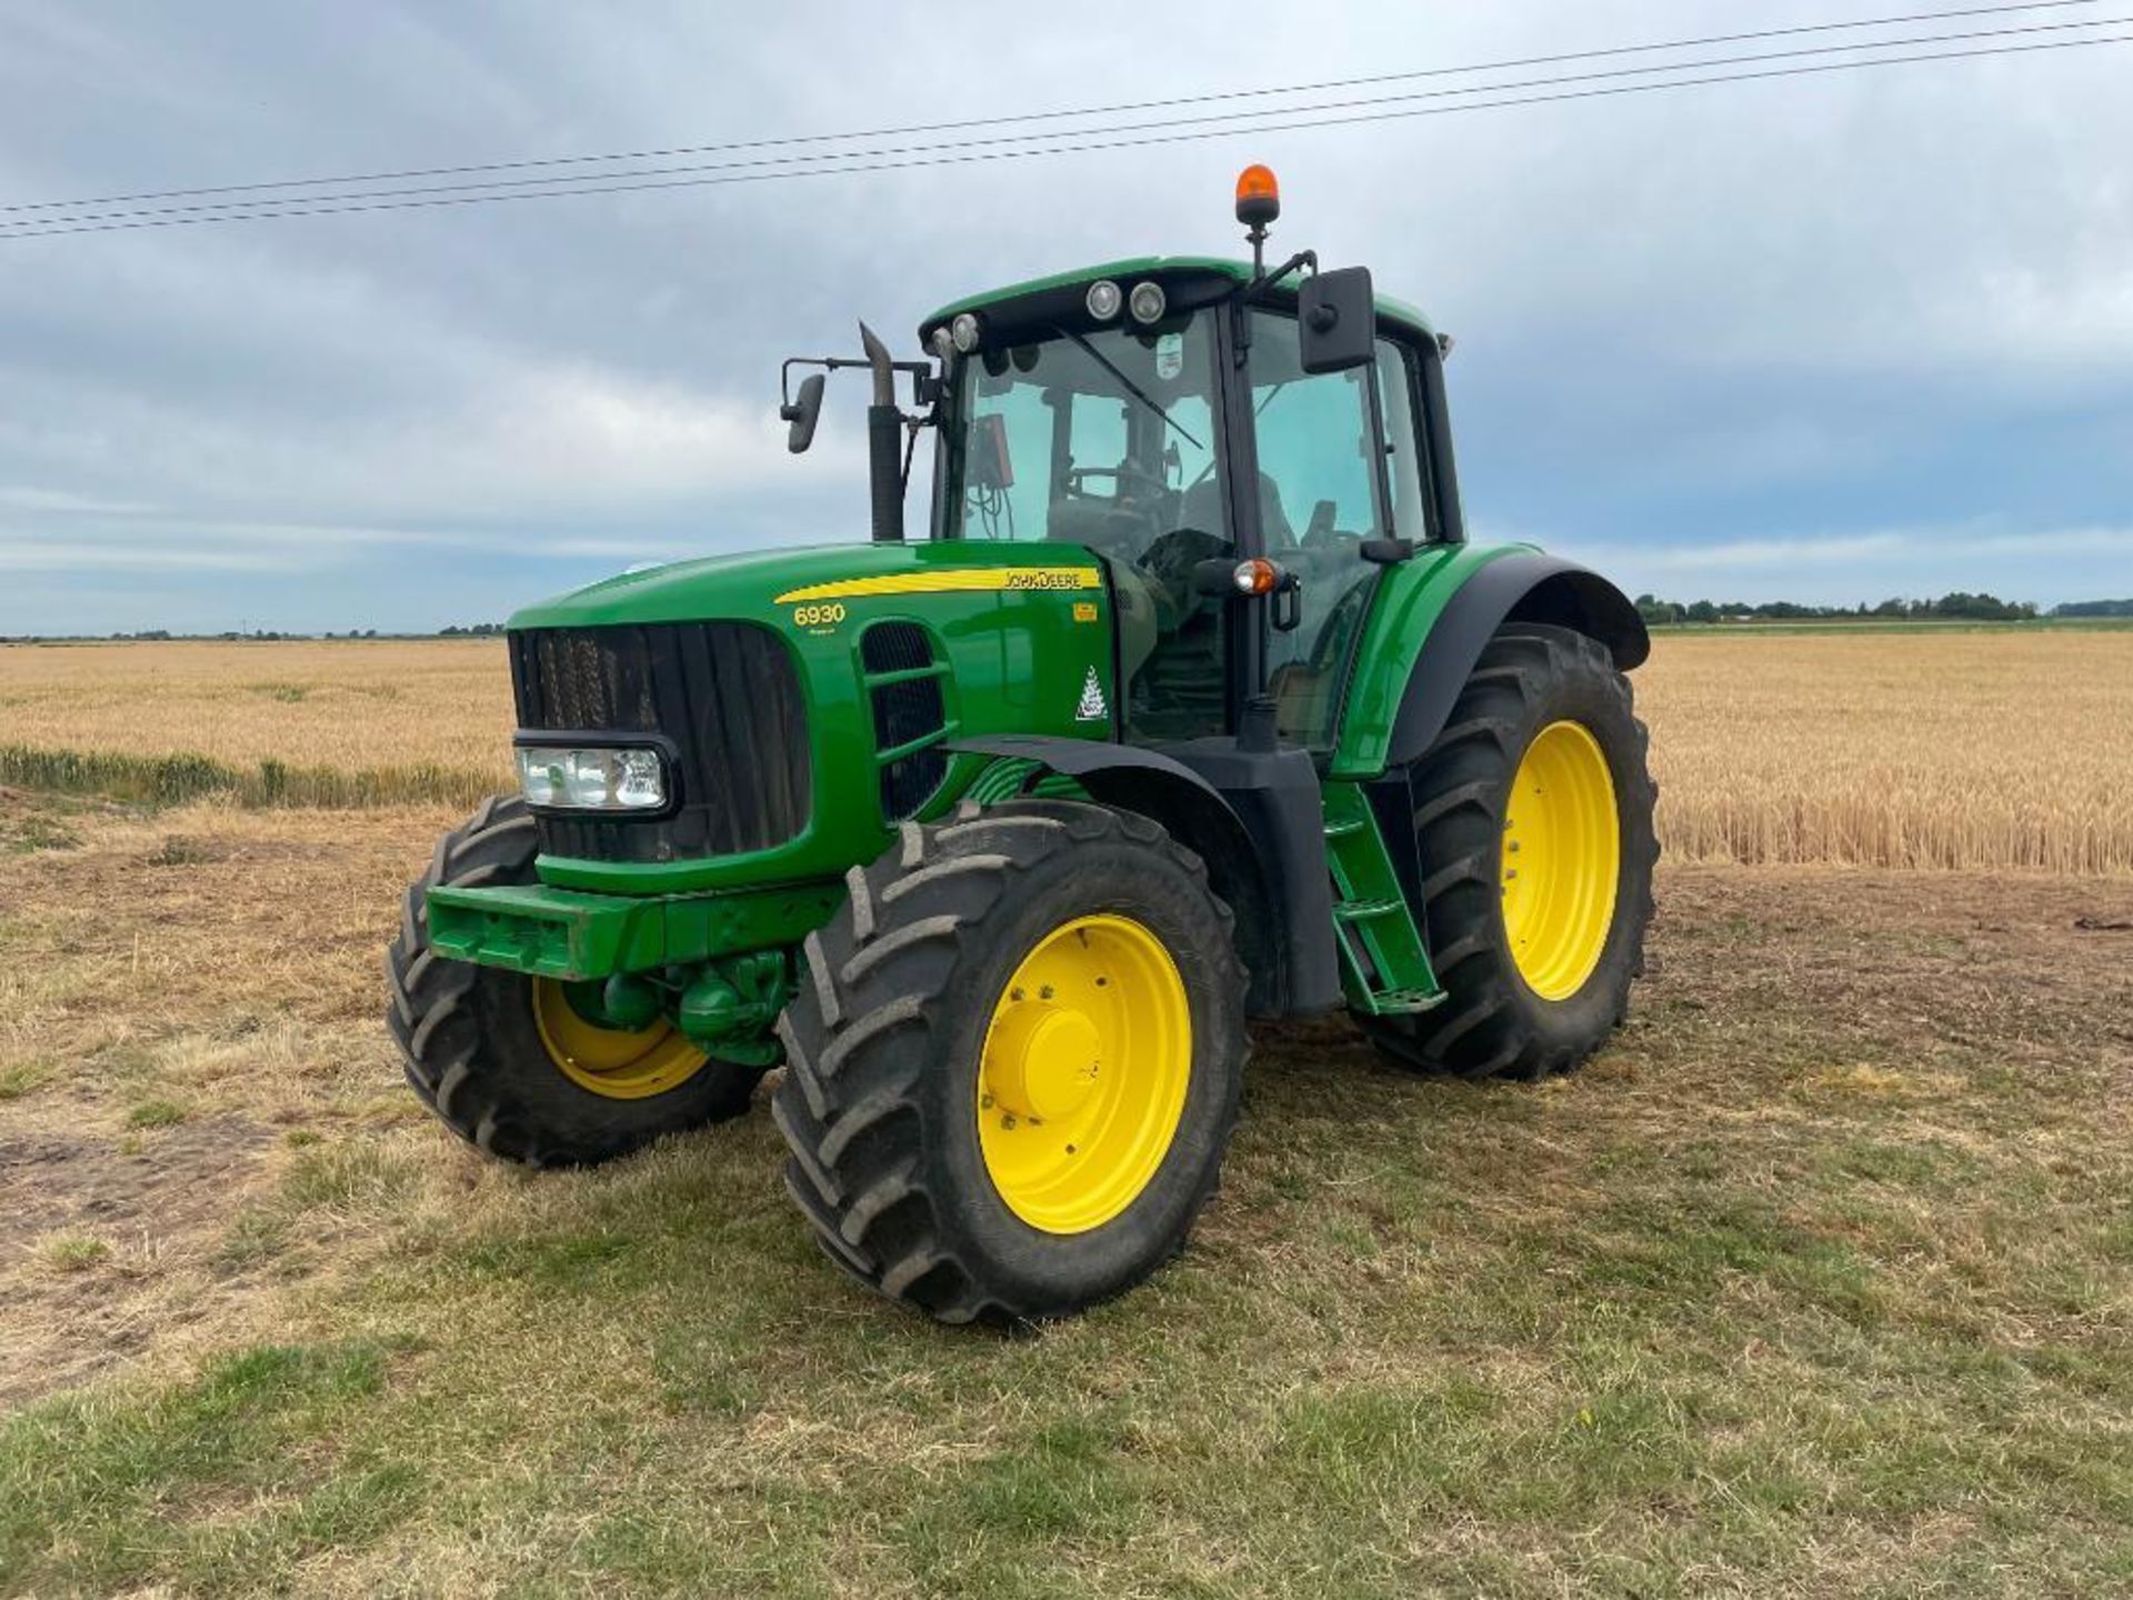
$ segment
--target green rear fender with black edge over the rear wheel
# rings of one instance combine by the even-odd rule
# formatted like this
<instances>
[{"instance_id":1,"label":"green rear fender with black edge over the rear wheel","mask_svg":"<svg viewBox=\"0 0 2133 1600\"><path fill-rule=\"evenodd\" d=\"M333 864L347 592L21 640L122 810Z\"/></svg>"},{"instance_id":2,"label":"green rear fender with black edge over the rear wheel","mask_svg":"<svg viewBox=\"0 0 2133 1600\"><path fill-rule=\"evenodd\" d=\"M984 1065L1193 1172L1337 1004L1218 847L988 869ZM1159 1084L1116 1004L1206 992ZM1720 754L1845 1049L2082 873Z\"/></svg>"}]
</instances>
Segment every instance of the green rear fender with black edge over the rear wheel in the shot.
<instances>
[{"instance_id":1,"label":"green rear fender with black edge over the rear wheel","mask_svg":"<svg viewBox=\"0 0 2133 1600\"><path fill-rule=\"evenodd\" d=\"M1357 646L1329 777L1367 781L1421 757L1504 623L1555 623L1627 672L1651 655L1636 606L1606 578L1529 544L1448 544L1386 572Z\"/></svg>"}]
</instances>

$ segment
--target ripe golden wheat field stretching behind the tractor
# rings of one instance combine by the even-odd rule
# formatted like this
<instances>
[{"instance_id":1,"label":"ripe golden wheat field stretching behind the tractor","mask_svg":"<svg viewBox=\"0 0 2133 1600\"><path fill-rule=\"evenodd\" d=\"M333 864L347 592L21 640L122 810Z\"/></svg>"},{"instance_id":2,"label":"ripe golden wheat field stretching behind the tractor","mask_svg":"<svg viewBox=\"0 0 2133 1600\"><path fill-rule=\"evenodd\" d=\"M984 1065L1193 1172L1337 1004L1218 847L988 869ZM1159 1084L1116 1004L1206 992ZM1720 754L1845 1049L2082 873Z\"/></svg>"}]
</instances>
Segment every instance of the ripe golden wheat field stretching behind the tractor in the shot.
<instances>
[{"instance_id":1,"label":"ripe golden wheat field stretching behind the tractor","mask_svg":"<svg viewBox=\"0 0 2133 1600\"><path fill-rule=\"evenodd\" d=\"M1636 674L1677 860L2133 875L2133 631L1662 634ZM471 804L493 640L0 649L0 783Z\"/></svg>"}]
</instances>

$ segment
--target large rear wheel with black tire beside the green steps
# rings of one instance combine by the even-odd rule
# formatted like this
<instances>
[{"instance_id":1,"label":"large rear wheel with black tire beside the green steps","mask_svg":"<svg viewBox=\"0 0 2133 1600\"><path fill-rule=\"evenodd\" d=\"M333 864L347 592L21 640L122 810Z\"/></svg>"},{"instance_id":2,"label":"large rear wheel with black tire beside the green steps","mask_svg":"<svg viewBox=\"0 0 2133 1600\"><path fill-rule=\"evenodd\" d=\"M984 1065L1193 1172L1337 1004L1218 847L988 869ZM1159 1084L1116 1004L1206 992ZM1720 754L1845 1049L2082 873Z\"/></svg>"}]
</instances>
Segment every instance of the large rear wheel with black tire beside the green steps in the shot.
<instances>
[{"instance_id":1,"label":"large rear wheel with black tire beside the green steps","mask_svg":"<svg viewBox=\"0 0 2133 1600\"><path fill-rule=\"evenodd\" d=\"M1527 764L1544 734L1553 745ZM1423 932L1446 998L1412 1018L1359 1018L1395 1065L1461 1077L1546 1077L1583 1062L1621 1024L1630 981L1645 969L1651 868L1659 858L1647 745L1630 681L1598 640L1517 623L1489 642L1444 732L1410 770ZM1608 847L1617 860L1613 883L1595 885L1613 890L1604 922L1591 911L1589 932L1572 926L1555 941L1568 941L1568 954L1536 956L1542 941L1531 934L1531 913L1512 913L1514 939L1506 892L1531 892L1517 873L1521 864L1531 873L1538 849L1510 853L1517 841L1506 830L1519 809L1538 806L1531 774L1546 766L1551 749L1574 757L1595 749L1606 783L1598 783L1598 768L1593 781L1610 789L1615 813L1613 838L1587 834L1593 849L1555 851L1561 870L1574 875L1581 855L1604 858ZM1521 806L1512 804L1514 785L1527 789ZM1521 832L1529 830L1531 819ZM1589 939L1585 949L1576 949L1581 939Z\"/></svg>"}]
</instances>

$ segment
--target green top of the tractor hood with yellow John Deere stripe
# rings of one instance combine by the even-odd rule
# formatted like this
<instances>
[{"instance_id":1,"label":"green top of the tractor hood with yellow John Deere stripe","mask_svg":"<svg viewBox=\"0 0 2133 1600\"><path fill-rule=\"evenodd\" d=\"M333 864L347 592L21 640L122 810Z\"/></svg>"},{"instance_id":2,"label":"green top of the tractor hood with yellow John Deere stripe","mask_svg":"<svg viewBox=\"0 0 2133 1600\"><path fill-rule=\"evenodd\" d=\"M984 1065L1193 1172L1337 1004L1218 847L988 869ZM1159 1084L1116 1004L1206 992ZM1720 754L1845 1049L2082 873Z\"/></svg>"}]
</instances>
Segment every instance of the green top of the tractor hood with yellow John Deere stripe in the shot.
<instances>
[{"instance_id":1,"label":"green top of the tractor hood with yellow John Deere stripe","mask_svg":"<svg viewBox=\"0 0 2133 1600\"><path fill-rule=\"evenodd\" d=\"M627 572L516 612L508 627L608 627L710 617L776 621L781 604L973 591L1101 589L1077 544L945 540L819 544Z\"/></svg>"}]
</instances>

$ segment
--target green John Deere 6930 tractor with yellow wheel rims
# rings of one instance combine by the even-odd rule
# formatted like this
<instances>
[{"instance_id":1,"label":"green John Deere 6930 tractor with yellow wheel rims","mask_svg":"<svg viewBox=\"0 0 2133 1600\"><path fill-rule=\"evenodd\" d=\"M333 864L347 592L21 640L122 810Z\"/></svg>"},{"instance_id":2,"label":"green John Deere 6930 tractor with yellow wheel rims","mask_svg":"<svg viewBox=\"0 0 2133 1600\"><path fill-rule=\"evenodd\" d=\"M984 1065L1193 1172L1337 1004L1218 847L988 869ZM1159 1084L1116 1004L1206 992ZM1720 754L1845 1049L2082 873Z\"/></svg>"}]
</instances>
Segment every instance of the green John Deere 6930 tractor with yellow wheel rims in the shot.
<instances>
[{"instance_id":1,"label":"green John Deere 6930 tractor with yellow wheel rims","mask_svg":"<svg viewBox=\"0 0 2133 1600\"><path fill-rule=\"evenodd\" d=\"M1363 269L1269 269L1276 213L1250 169L1250 265L1118 260L943 307L926 361L862 326L787 363L793 450L825 371L870 371L870 544L512 619L523 794L437 845L388 960L450 1129L595 1163L783 1065L823 1252L1020 1321L1182 1248L1248 1018L1346 1007L1463 1077L1606 1039L1657 855L1645 629L1465 540L1448 339Z\"/></svg>"}]
</instances>

